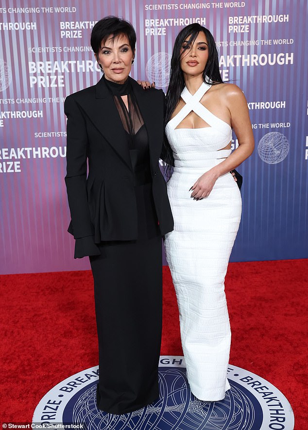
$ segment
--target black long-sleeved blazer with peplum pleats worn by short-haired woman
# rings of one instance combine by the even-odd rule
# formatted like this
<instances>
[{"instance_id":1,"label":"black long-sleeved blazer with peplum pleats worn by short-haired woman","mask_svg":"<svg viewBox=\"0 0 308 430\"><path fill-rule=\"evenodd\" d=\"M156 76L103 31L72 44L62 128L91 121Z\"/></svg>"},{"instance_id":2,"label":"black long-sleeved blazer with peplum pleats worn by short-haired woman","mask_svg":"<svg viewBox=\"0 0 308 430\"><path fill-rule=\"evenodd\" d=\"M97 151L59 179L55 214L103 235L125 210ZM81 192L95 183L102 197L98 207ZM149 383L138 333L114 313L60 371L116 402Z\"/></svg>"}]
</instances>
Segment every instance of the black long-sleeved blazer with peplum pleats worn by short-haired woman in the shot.
<instances>
[{"instance_id":1,"label":"black long-sleeved blazer with peplum pleats worn by short-haired woman","mask_svg":"<svg viewBox=\"0 0 308 430\"><path fill-rule=\"evenodd\" d=\"M153 198L160 232L173 229L165 179L159 168L163 142L164 93L131 82L148 132ZM65 182L74 235L75 258L98 254L95 244L137 239L133 170L125 131L103 78L68 96L67 175ZM87 176L88 163L88 176Z\"/></svg>"}]
</instances>

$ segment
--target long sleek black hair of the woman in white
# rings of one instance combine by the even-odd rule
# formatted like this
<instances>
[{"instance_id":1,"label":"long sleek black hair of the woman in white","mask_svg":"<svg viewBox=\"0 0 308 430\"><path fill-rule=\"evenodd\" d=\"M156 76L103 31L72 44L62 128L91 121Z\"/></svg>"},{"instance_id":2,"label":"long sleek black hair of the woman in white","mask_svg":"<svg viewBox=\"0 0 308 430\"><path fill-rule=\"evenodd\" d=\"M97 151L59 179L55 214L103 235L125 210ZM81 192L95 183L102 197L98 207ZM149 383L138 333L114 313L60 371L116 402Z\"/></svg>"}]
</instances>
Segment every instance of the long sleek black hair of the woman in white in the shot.
<instances>
[{"instance_id":1,"label":"long sleek black hair of the woman in white","mask_svg":"<svg viewBox=\"0 0 308 430\"><path fill-rule=\"evenodd\" d=\"M165 112L165 127L169 122L174 109L176 108L181 93L185 87L184 74L181 69L181 53L183 50L183 43L187 41L188 45L192 45L200 32L205 33L208 45L208 60L205 65L202 77L205 83L215 85L222 83L222 77L219 72L218 50L212 33L207 28L202 27L198 23L190 24L184 27L177 35L171 57L170 80L166 94L166 112ZM189 51L188 51L189 52ZM170 178L174 159L172 149L165 136L163 145L163 157L165 174Z\"/></svg>"}]
</instances>

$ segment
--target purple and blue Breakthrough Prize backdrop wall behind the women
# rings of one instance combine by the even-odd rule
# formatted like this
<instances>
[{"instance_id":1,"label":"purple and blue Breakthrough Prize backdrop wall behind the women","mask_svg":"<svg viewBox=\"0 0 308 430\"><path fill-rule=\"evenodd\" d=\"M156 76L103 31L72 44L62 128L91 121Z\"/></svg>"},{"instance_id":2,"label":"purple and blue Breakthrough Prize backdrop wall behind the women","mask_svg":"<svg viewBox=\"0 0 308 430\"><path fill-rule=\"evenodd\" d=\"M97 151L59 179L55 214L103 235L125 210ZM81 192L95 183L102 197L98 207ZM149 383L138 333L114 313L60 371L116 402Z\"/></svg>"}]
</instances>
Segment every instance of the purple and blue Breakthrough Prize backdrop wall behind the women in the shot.
<instances>
[{"instance_id":1,"label":"purple and blue Breakthrough Prize backdrop wall behind the women","mask_svg":"<svg viewBox=\"0 0 308 430\"><path fill-rule=\"evenodd\" d=\"M132 77L165 92L177 33L193 22L213 33L222 79L244 91L256 140L238 169L231 261L308 257L307 11L307 0L2 0L0 273L89 268L73 259L67 232L63 103L101 78L90 33L107 15L136 29Z\"/></svg>"}]
</instances>

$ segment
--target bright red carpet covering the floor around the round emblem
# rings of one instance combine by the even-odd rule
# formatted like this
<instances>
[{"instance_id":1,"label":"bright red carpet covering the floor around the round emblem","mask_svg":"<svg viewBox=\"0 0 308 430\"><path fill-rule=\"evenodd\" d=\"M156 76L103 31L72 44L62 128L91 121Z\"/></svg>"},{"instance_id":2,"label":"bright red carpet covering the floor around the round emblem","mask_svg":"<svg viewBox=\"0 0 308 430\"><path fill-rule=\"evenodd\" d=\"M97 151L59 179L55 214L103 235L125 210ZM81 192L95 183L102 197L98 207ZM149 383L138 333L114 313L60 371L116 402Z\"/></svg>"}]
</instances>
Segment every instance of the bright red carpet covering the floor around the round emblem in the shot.
<instances>
[{"instance_id":1,"label":"bright red carpet covering the floor around the round emblem","mask_svg":"<svg viewBox=\"0 0 308 430\"><path fill-rule=\"evenodd\" d=\"M226 294L230 363L288 398L295 430L308 429L308 260L231 263ZM89 271L2 275L1 422L30 422L52 386L98 364ZM178 311L164 268L163 355L182 355ZM304 387L305 384L305 387Z\"/></svg>"}]
</instances>

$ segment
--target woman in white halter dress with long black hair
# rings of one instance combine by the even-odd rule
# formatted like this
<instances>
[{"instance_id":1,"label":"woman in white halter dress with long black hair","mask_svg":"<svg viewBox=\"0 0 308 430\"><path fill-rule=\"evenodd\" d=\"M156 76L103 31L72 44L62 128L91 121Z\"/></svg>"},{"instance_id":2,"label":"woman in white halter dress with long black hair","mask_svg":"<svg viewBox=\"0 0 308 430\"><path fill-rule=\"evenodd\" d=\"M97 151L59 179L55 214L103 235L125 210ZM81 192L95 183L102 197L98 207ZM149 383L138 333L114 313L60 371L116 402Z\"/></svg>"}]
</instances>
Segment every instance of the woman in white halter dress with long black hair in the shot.
<instances>
[{"instance_id":1,"label":"woman in white halter dress with long black hair","mask_svg":"<svg viewBox=\"0 0 308 430\"><path fill-rule=\"evenodd\" d=\"M231 154L232 129L239 147ZM187 377L195 397L216 401L230 388L224 278L241 215L230 171L252 154L254 137L247 101L238 86L222 82L214 38L199 24L185 27L174 44L165 131L174 230L164 243Z\"/></svg>"}]
</instances>

